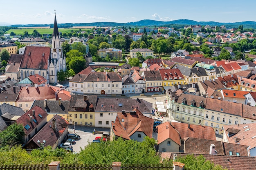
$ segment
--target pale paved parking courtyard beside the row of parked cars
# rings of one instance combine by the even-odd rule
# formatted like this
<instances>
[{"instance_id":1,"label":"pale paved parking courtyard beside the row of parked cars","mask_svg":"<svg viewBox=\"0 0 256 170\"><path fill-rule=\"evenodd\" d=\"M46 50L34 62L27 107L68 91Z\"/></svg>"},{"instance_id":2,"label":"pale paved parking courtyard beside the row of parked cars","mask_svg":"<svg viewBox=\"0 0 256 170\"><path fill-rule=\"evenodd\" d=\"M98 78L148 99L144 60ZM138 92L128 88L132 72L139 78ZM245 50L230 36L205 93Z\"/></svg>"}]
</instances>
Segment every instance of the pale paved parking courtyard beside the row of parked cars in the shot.
<instances>
[{"instance_id":1,"label":"pale paved parking courtyard beside the row of parked cars","mask_svg":"<svg viewBox=\"0 0 256 170\"><path fill-rule=\"evenodd\" d=\"M75 133L80 136L80 140L76 140L76 143L72 145L74 152L79 153L81 148L84 149L85 146L92 142L95 137L102 136L102 134L93 135L93 130L96 131L106 131L110 132L110 128L97 128L97 127L89 127L89 126L75 126ZM74 126L69 125L68 129L69 133L74 133ZM81 148L80 148L81 147Z\"/></svg>"}]
</instances>

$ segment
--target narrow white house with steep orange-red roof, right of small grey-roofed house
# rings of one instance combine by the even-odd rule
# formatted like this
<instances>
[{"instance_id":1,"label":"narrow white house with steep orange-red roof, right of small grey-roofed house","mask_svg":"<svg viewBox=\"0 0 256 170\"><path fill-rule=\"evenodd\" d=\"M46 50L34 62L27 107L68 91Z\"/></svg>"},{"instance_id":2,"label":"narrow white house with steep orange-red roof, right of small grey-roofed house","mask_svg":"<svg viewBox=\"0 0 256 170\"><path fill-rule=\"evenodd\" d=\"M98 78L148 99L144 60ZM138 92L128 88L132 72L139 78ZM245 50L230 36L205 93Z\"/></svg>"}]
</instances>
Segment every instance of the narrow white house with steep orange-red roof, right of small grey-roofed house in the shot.
<instances>
[{"instance_id":1,"label":"narrow white house with steep orange-red roof, right of small grey-roofed house","mask_svg":"<svg viewBox=\"0 0 256 170\"><path fill-rule=\"evenodd\" d=\"M132 74L132 80L135 83L135 94L146 92L146 81L144 81L137 70L134 70Z\"/></svg>"}]
</instances>

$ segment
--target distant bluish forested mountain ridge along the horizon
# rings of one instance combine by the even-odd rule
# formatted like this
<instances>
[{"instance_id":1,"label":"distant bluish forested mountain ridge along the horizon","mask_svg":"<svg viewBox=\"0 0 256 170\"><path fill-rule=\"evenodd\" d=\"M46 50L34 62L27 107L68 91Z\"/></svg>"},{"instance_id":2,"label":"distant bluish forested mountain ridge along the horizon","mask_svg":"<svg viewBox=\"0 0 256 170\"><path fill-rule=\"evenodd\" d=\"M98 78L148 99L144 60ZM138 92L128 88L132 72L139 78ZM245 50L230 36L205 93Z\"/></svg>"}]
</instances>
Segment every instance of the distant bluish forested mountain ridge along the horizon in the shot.
<instances>
[{"instance_id":1,"label":"distant bluish forested mountain ridge along the horizon","mask_svg":"<svg viewBox=\"0 0 256 170\"><path fill-rule=\"evenodd\" d=\"M214 22L214 21L193 21L193 20L174 20L174 21L155 21L155 20L141 20L137 22L127 22L127 23L117 23L117 22L92 22L92 23L65 23L58 24L58 27L72 27L72 26L164 26L168 24L177 24L177 25L210 25L210 26L221 26L225 25L227 28L238 27L243 25L244 28L256 28L256 22L254 21L243 21L243 22ZM14 27L36 27L36 26L50 26L53 27L53 24L26 24L26 25L11 25Z\"/></svg>"}]
</instances>

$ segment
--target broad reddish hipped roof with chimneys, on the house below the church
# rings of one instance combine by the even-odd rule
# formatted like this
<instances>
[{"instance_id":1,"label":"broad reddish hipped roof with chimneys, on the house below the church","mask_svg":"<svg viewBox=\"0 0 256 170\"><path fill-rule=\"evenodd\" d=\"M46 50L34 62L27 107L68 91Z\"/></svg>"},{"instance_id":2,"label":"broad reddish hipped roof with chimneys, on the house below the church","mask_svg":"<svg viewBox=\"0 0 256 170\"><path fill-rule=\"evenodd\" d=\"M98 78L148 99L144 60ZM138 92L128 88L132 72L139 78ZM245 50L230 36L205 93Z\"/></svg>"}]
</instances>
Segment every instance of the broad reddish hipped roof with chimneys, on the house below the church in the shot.
<instances>
[{"instance_id":1,"label":"broad reddish hipped roof with chimneys, on the house below the church","mask_svg":"<svg viewBox=\"0 0 256 170\"><path fill-rule=\"evenodd\" d=\"M54 99L55 92L50 87L21 87L20 92L17 96L16 102L27 102L27 101L34 101L34 100L49 100Z\"/></svg>"}]
</instances>

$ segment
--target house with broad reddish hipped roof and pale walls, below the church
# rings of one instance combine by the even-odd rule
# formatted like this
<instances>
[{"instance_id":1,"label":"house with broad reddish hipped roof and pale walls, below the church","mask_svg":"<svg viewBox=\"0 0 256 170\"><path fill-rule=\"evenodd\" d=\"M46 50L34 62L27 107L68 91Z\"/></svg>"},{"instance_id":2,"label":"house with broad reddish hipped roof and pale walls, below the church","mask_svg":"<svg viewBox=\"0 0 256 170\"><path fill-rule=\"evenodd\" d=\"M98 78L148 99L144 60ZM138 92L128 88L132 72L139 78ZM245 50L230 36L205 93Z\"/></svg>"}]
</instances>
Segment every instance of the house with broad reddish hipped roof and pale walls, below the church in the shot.
<instances>
[{"instance_id":1,"label":"house with broad reddish hipped roof and pale walls, below the church","mask_svg":"<svg viewBox=\"0 0 256 170\"><path fill-rule=\"evenodd\" d=\"M16 106L28 111L34 100L56 100L56 94L50 87L21 87L15 100Z\"/></svg>"}]
</instances>

